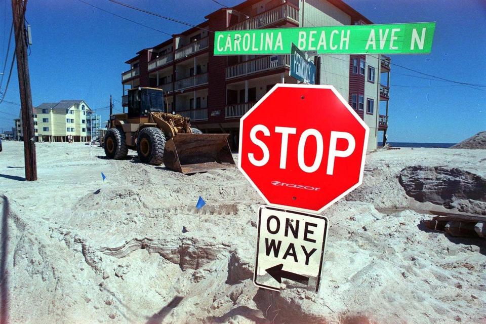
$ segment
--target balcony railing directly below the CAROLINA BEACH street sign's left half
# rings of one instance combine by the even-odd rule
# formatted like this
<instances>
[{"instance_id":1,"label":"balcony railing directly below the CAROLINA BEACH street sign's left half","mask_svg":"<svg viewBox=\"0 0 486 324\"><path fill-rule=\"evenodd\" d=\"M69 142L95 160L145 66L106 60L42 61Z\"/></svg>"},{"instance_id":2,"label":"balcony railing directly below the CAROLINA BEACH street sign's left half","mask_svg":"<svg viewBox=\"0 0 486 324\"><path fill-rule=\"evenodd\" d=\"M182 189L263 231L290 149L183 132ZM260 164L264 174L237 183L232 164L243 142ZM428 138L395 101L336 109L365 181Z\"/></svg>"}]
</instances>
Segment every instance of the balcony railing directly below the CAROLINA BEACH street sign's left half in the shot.
<instances>
[{"instance_id":1,"label":"balcony railing directly below the CAROLINA BEACH street sign's left half","mask_svg":"<svg viewBox=\"0 0 486 324\"><path fill-rule=\"evenodd\" d=\"M262 72L279 67L290 65L290 55L278 55L278 58L271 61L272 56L265 56L255 60L228 66L226 68L226 78L244 76L247 74Z\"/></svg>"}]
</instances>

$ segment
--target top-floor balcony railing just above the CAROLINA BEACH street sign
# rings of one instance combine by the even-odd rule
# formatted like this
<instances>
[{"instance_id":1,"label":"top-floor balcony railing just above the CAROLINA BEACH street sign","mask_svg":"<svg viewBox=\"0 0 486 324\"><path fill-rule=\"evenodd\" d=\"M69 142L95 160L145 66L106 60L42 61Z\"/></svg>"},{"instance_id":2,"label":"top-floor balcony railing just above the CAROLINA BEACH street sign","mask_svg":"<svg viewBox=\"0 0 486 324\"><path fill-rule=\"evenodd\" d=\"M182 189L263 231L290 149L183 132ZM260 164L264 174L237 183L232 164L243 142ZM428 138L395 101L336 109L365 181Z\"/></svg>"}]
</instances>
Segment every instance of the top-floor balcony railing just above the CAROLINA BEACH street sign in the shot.
<instances>
[{"instance_id":1,"label":"top-floor balcony railing just above the CAROLINA BEACH street sign","mask_svg":"<svg viewBox=\"0 0 486 324\"><path fill-rule=\"evenodd\" d=\"M299 8L290 4L284 4L234 24L228 27L228 30L257 29L286 19L299 23Z\"/></svg>"}]
</instances>

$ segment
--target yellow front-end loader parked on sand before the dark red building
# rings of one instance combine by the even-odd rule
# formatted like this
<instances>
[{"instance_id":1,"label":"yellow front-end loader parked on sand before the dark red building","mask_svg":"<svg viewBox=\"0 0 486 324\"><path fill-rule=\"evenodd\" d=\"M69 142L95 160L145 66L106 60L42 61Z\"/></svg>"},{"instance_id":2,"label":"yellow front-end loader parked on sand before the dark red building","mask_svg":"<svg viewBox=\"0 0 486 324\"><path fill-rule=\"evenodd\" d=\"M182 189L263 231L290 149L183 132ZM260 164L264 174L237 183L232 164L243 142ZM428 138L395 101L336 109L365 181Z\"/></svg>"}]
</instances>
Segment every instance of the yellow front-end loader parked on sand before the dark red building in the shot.
<instances>
[{"instance_id":1,"label":"yellow front-end loader parked on sand before the dark red building","mask_svg":"<svg viewBox=\"0 0 486 324\"><path fill-rule=\"evenodd\" d=\"M108 158L123 159L137 150L143 163L194 174L234 168L229 134L203 134L188 117L166 112L164 92L155 88L128 91L128 113L112 114L104 138Z\"/></svg>"}]
</instances>

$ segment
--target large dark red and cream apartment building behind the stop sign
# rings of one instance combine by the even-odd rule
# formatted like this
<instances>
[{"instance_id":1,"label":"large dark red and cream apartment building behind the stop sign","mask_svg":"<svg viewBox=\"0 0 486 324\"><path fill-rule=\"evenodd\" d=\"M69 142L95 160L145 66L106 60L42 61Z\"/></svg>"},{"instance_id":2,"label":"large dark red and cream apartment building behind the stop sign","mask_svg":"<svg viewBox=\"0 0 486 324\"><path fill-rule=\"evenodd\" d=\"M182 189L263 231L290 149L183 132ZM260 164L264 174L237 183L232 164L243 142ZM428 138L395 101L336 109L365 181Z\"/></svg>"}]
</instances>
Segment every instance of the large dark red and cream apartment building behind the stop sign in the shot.
<instances>
[{"instance_id":1,"label":"large dark red and cream apartment building behind the stop sign","mask_svg":"<svg viewBox=\"0 0 486 324\"><path fill-rule=\"evenodd\" d=\"M276 83L297 80L289 76L290 55L214 56L213 31L372 24L341 0L247 0L205 18L126 61L130 69L121 74L122 101L126 106L128 89L163 89L171 112L190 117L191 124L205 133L230 133L233 147L237 147L239 118ZM317 83L333 85L349 99L370 127L368 149L375 149L378 131L387 128L390 59L383 55L320 57ZM383 73L386 84L381 85ZM380 107L386 107L386 115L379 114Z\"/></svg>"}]
</instances>

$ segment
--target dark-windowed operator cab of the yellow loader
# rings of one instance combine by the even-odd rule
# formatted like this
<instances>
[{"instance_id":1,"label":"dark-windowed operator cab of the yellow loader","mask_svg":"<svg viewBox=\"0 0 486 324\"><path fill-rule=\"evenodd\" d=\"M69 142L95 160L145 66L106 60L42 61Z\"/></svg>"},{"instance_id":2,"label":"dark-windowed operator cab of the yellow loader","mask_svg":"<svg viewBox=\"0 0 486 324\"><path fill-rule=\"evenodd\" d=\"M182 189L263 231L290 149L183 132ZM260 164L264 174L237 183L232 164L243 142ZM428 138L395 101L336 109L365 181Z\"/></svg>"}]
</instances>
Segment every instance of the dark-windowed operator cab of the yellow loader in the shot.
<instances>
[{"instance_id":1,"label":"dark-windowed operator cab of the yellow loader","mask_svg":"<svg viewBox=\"0 0 486 324\"><path fill-rule=\"evenodd\" d=\"M164 91L136 88L128 91L128 117L146 117L149 112L166 112Z\"/></svg>"}]
</instances>

